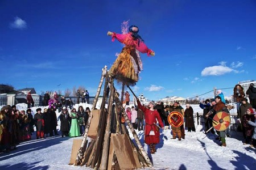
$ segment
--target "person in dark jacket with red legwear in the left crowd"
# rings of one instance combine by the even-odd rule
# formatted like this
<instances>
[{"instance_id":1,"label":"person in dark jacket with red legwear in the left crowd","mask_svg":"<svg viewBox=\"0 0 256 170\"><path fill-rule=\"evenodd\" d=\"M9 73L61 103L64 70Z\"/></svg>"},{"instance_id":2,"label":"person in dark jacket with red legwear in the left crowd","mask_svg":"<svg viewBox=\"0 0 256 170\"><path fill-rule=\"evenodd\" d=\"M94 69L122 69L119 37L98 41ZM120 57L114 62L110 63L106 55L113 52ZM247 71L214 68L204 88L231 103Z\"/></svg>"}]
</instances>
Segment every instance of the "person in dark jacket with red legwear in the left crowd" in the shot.
<instances>
[{"instance_id":1,"label":"person in dark jacket with red legwear in the left crowd","mask_svg":"<svg viewBox=\"0 0 256 170\"><path fill-rule=\"evenodd\" d=\"M44 114L41 111L41 108L36 109L36 114L34 116L36 139L44 138Z\"/></svg>"}]
</instances>

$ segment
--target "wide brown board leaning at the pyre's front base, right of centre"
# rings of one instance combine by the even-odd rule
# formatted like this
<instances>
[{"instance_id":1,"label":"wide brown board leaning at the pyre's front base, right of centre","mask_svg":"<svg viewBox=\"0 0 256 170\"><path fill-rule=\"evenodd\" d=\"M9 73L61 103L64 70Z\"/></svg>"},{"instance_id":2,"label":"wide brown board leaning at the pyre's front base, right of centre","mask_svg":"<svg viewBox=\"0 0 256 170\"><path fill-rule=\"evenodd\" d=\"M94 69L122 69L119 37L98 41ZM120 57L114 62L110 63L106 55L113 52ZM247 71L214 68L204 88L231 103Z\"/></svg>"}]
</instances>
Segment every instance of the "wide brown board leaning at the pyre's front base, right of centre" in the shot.
<instances>
[{"instance_id":1,"label":"wide brown board leaning at the pyre's front base, right of centre","mask_svg":"<svg viewBox=\"0 0 256 170\"><path fill-rule=\"evenodd\" d=\"M121 169L137 169L141 168L139 158L134 154L130 139L127 134L116 135L111 140L114 147L115 155ZM125 154L124 154L125 153ZM138 167L139 163L139 167Z\"/></svg>"}]
</instances>

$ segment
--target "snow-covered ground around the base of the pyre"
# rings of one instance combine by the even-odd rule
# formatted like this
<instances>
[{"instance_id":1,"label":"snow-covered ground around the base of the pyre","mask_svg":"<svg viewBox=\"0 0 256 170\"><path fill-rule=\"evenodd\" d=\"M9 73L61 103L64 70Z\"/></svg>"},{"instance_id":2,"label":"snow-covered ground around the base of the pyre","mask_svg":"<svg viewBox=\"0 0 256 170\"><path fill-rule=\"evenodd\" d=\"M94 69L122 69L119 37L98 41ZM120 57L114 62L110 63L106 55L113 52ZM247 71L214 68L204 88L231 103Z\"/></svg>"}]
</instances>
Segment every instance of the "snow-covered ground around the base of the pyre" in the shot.
<instances>
[{"instance_id":1,"label":"snow-covered ground around the base of the pyre","mask_svg":"<svg viewBox=\"0 0 256 170\"><path fill-rule=\"evenodd\" d=\"M26 105L17 105L20 110L22 107L25 109ZM192 105L192 108L195 113L202 112L198 105ZM32 108L34 112L35 109ZM220 147L220 142L215 140L217 136L206 135L203 130L203 126L196 125L196 132L186 130L185 139L181 141L171 139L170 129L160 131L160 143L152 155L144 145L143 131L137 131L154 164L146 169L255 169L256 149L243 145L242 133L231 131L232 138L226 138L227 146ZM133 139L131 134L130 137ZM18 150L0 154L0 169L90 169L68 165L73 139L79 138L55 136L36 140L33 135L31 141L20 143Z\"/></svg>"}]
</instances>

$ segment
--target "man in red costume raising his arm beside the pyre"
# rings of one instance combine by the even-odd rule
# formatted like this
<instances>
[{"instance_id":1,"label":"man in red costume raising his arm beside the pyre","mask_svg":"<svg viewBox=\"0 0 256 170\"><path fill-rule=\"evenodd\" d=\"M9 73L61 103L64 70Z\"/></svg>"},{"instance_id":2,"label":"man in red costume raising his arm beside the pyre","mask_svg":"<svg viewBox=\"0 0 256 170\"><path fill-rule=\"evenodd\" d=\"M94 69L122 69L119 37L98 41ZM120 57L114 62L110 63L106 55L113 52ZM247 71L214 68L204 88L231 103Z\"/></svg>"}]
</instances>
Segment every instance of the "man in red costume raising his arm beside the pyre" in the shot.
<instances>
[{"instance_id":1,"label":"man in red costume raising his arm beside the pyre","mask_svg":"<svg viewBox=\"0 0 256 170\"><path fill-rule=\"evenodd\" d=\"M145 131L144 131L144 136L145 136L145 143L150 147L150 152L151 154L154 154L156 152L155 145L160 142L159 136L159 129L158 125L156 125L156 120L158 120L159 125L162 129L164 129L163 122L161 120L161 117L154 109L154 104L150 102L148 104L148 108L143 107L141 105L141 102L137 98L137 103L138 103L138 108L141 109L144 112L144 117L145 117Z\"/></svg>"}]
</instances>

